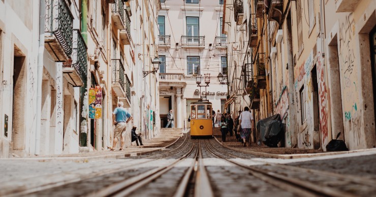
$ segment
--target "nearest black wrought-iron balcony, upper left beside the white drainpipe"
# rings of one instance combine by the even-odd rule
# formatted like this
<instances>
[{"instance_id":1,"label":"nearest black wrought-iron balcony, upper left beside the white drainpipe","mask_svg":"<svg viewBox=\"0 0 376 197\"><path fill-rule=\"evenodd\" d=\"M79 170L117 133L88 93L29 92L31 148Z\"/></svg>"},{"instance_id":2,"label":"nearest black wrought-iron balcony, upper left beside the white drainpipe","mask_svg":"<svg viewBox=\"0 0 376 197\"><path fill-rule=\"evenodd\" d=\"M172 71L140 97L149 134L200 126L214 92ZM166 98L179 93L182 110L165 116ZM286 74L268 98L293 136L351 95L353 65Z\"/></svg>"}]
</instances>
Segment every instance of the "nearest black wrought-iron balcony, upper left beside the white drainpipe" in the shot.
<instances>
[{"instance_id":1,"label":"nearest black wrought-iron balcony, upper left beside the white drainpipe","mask_svg":"<svg viewBox=\"0 0 376 197\"><path fill-rule=\"evenodd\" d=\"M55 61L67 61L72 54L73 15L64 0L45 1L45 48Z\"/></svg>"}]
</instances>

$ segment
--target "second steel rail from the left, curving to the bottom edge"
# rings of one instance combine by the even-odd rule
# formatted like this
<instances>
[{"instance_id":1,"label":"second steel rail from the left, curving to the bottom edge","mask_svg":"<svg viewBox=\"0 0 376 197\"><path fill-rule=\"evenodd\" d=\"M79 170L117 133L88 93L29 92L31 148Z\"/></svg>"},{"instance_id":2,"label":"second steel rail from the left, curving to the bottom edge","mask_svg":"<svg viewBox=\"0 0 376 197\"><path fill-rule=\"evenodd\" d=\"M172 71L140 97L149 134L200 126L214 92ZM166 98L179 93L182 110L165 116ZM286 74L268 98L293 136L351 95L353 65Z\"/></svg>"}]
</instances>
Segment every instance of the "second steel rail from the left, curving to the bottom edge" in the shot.
<instances>
[{"instance_id":1,"label":"second steel rail from the left, curving to the bottom edge","mask_svg":"<svg viewBox=\"0 0 376 197\"><path fill-rule=\"evenodd\" d=\"M188 146L188 144L184 147L184 149ZM114 185L111 185L109 187L106 187L105 189L102 189L100 191L96 191L93 193L90 193L89 195L96 195L96 196L126 196L130 193L136 191L138 188L152 182L153 180L159 178L169 170L171 170L173 167L175 167L178 163L183 161L186 157L191 155L193 150L195 149L196 141L194 141L192 147L184 153L182 156L180 156L178 159L176 159L171 164L168 164L163 167L159 167L157 169L147 171L146 173L142 173L138 176L134 176L128 180L121 181L118 183L115 183Z\"/></svg>"}]
</instances>

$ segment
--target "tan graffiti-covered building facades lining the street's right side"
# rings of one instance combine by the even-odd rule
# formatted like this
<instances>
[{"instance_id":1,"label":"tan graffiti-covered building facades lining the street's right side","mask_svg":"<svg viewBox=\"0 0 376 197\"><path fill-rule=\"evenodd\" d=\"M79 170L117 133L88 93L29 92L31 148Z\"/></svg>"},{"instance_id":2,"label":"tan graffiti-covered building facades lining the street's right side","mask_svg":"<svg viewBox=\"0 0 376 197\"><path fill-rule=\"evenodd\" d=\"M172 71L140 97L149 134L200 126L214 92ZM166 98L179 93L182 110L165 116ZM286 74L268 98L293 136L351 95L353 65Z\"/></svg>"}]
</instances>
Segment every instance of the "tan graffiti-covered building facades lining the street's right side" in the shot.
<instances>
[{"instance_id":1,"label":"tan graffiti-covered building facades lining the street's right side","mask_svg":"<svg viewBox=\"0 0 376 197\"><path fill-rule=\"evenodd\" d=\"M349 149L374 147L374 1L239 2L226 5L243 5L253 68L243 102L256 120L280 114L286 147L326 150L338 133ZM234 25L224 31L239 40Z\"/></svg>"}]
</instances>

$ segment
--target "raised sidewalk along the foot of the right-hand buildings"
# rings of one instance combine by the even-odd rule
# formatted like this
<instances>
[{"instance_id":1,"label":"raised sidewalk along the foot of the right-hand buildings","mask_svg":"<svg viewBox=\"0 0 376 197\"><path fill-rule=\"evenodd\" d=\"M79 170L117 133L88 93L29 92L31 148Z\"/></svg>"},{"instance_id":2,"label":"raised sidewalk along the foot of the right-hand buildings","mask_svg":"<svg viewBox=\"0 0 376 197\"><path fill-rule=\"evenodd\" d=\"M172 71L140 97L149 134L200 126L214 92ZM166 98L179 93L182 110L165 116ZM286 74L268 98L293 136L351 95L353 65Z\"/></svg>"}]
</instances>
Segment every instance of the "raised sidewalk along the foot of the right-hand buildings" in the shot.
<instances>
[{"instance_id":1,"label":"raised sidewalk along the foot of the right-hand buildings","mask_svg":"<svg viewBox=\"0 0 376 197\"><path fill-rule=\"evenodd\" d=\"M327 155L336 155L336 154L349 154L356 152L367 152L375 151L376 149L361 149L361 150L351 150L351 151L338 151L338 152L324 152L323 150L316 149L303 149L303 148L286 148L286 147L268 147L264 144L257 145L257 143L252 143L251 146L243 147L241 142L237 142L235 135L226 136L226 142L221 142L222 133L219 128L214 128L213 130L214 138L224 146L240 151L247 154L254 154L263 157L270 157L276 159L298 159L298 158L309 158L309 157L318 157L318 156L327 156Z\"/></svg>"}]
</instances>

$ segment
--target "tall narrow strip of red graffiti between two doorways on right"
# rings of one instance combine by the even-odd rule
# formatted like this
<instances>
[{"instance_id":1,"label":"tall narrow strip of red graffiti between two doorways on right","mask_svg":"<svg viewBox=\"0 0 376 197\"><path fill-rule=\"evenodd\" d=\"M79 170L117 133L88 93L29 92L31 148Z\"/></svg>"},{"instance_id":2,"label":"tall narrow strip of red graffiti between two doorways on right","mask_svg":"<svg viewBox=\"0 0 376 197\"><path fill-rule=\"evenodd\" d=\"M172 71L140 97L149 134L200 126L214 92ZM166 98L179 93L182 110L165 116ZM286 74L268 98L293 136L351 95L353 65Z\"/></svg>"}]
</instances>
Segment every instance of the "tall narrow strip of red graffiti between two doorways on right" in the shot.
<instances>
[{"instance_id":1,"label":"tall narrow strip of red graffiti between two doorways on right","mask_svg":"<svg viewBox=\"0 0 376 197\"><path fill-rule=\"evenodd\" d=\"M325 84L325 67L321 61L321 52L318 53L316 63L318 73L318 87L319 87L319 113L320 113L320 132L323 144L328 141L328 94Z\"/></svg>"}]
</instances>

